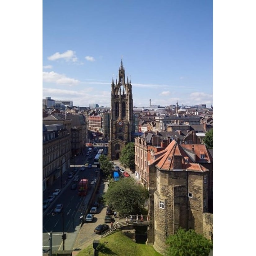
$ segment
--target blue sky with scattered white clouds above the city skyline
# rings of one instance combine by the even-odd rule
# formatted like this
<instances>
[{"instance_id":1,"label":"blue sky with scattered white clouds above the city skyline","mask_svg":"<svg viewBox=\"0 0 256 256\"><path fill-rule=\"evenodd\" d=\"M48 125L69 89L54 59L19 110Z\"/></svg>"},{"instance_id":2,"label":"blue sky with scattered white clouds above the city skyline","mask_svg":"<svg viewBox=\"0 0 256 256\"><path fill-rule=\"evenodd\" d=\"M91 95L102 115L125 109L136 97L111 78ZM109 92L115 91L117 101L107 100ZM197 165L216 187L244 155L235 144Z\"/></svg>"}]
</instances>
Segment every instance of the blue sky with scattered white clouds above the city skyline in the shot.
<instances>
[{"instance_id":1,"label":"blue sky with scattered white clouds above the city skyline","mask_svg":"<svg viewBox=\"0 0 256 256\"><path fill-rule=\"evenodd\" d=\"M213 104L213 2L43 1L43 98L110 106L123 59L133 106Z\"/></svg>"}]
</instances>

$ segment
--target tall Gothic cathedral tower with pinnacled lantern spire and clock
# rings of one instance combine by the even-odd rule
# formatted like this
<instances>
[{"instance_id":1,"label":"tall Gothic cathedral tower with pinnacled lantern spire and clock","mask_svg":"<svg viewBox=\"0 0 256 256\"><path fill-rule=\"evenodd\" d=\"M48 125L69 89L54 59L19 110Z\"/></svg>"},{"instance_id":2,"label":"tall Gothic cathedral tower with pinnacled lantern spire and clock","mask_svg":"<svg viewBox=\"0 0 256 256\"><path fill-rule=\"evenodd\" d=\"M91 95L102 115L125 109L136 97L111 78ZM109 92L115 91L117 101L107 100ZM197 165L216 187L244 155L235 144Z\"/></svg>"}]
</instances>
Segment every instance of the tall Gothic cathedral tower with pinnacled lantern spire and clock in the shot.
<instances>
[{"instance_id":1,"label":"tall Gothic cathedral tower with pinnacled lantern spire and clock","mask_svg":"<svg viewBox=\"0 0 256 256\"><path fill-rule=\"evenodd\" d=\"M117 160L124 146L132 141L133 105L131 79L125 83L123 60L119 67L119 78L111 84L110 140L108 157Z\"/></svg>"}]
</instances>

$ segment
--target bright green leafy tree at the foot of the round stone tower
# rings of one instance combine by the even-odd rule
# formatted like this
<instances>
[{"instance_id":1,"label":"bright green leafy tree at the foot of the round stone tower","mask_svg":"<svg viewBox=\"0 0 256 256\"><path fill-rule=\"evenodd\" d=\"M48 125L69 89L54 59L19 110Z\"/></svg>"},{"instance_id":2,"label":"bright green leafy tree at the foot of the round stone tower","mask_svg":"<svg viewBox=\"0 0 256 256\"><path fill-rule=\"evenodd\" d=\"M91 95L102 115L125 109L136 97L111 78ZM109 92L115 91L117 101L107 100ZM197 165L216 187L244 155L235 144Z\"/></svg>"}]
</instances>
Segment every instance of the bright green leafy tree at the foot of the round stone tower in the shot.
<instances>
[{"instance_id":1,"label":"bright green leafy tree at the foot of the round stone tower","mask_svg":"<svg viewBox=\"0 0 256 256\"><path fill-rule=\"evenodd\" d=\"M213 249L213 241L197 234L195 230L179 228L175 235L168 236L166 256L208 256Z\"/></svg>"}]
</instances>

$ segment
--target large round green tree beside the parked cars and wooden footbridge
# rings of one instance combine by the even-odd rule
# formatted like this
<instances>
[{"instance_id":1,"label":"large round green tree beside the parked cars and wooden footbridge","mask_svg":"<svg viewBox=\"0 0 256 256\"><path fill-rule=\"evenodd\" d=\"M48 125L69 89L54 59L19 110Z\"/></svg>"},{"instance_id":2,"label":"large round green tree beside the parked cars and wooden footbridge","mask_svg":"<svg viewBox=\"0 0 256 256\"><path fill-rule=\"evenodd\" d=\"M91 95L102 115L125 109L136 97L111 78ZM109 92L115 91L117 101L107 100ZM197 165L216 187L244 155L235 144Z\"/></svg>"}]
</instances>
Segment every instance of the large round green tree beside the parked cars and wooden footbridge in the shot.
<instances>
[{"instance_id":1,"label":"large round green tree beside the parked cars and wooden footbridge","mask_svg":"<svg viewBox=\"0 0 256 256\"><path fill-rule=\"evenodd\" d=\"M112 204L120 215L124 215L141 213L148 196L148 190L130 177L111 182L103 198L107 205Z\"/></svg>"}]
</instances>

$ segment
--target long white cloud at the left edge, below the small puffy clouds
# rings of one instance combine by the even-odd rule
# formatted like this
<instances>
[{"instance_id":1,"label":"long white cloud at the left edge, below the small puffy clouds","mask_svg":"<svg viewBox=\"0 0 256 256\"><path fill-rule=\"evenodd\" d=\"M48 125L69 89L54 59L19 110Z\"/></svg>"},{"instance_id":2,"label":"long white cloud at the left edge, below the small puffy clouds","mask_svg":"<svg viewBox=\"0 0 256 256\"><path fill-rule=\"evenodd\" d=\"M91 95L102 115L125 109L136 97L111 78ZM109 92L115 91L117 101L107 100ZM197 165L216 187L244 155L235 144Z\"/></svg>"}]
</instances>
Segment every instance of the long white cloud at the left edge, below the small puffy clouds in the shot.
<instances>
[{"instance_id":1,"label":"long white cloud at the left edge, below the small puffy clouds","mask_svg":"<svg viewBox=\"0 0 256 256\"><path fill-rule=\"evenodd\" d=\"M44 72L43 71L43 81L47 83L56 83L58 85L77 85L80 83L79 80L66 77L65 74L58 74L53 71Z\"/></svg>"}]
</instances>

